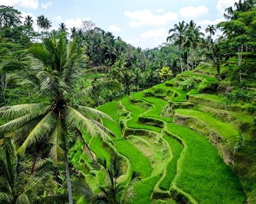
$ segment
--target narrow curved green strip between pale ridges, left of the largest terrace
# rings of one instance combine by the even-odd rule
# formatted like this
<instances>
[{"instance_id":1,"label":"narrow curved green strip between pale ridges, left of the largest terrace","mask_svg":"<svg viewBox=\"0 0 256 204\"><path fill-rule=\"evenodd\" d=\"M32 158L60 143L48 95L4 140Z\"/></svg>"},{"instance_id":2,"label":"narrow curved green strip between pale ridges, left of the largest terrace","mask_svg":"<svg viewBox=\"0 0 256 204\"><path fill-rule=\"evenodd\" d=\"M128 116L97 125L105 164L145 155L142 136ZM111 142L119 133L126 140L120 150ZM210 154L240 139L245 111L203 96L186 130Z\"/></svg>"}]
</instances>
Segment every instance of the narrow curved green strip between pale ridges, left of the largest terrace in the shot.
<instances>
[{"instance_id":1,"label":"narrow curved green strip between pale ridges, left of the largest terrace","mask_svg":"<svg viewBox=\"0 0 256 204\"><path fill-rule=\"evenodd\" d=\"M164 135L163 137L169 144L170 148L172 149L172 159L168 162L166 167L166 174L159 184L159 188L167 191L170 188L170 184L172 183L176 172L177 172L177 161L180 158L181 151L183 149L180 142L178 142L176 139L169 137L167 135Z\"/></svg>"}]
</instances>

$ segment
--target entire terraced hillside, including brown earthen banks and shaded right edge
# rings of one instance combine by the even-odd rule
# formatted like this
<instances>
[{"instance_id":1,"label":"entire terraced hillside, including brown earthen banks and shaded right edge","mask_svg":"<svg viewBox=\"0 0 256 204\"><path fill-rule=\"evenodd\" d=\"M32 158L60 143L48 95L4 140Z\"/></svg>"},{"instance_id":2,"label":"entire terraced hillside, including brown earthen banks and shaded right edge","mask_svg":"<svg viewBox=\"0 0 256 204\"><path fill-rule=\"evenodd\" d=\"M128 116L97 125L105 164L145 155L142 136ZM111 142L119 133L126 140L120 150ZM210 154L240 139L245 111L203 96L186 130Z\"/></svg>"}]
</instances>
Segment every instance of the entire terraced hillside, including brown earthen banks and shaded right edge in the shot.
<instances>
[{"instance_id":1,"label":"entire terraced hillside, including brown earthen banks and shaded right edge","mask_svg":"<svg viewBox=\"0 0 256 204\"><path fill-rule=\"evenodd\" d=\"M176 86L188 78L194 88ZM245 203L246 193L253 199L253 120L243 106L223 106L221 95L203 93L214 83L220 82L199 66L98 108L114 120L103 120L116 135L114 144L89 136L87 142L97 157L109 161L113 151L122 156L124 181L132 170L140 173L133 203L238 204ZM239 131L247 150L234 153ZM83 163L90 164L81 146L76 142L71 157L85 173ZM103 179L86 177L93 186Z\"/></svg>"}]
</instances>

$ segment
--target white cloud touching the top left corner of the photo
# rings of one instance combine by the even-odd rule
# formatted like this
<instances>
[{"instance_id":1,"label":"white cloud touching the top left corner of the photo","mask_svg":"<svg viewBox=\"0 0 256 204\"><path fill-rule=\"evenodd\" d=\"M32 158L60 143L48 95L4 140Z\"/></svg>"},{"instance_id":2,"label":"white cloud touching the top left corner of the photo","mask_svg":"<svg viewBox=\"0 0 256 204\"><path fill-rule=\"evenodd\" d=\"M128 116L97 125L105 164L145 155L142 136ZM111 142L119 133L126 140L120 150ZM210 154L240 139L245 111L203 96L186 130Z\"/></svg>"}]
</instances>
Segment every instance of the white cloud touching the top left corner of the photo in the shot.
<instances>
[{"instance_id":1,"label":"white cloud touching the top left corner of the photo","mask_svg":"<svg viewBox=\"0 0 256 204\"><path fill-rule=\"evenodd\" d=\"M0 0L0 5L20 6L26 9L36 9L38 7L37 0Z\"/></svg>"}]
</instances>

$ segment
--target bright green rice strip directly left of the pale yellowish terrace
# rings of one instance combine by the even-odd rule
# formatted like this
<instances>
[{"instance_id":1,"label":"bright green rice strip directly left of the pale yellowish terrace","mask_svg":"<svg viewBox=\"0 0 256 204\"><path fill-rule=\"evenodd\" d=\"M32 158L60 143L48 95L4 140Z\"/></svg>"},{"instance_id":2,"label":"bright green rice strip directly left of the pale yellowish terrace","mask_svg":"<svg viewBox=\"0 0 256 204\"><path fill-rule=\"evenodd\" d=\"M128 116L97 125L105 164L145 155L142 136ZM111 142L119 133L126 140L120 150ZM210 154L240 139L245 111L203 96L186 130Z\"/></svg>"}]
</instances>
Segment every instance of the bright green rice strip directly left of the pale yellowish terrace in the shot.
<instances>
[{"instance_id":1,"label":"bright green rice strip directly left of the pale yellowish terrace","mask_svg":"<svg viewBox=\"0 0 256 204\"><path fill-rule=\"evenodd\" d=\"M129 140L115 142L117 151L127 157L131 163L131 171L138 171L142 178L146 178L152 173L150 160L146 158L138 148Z\"/></svg>"}]
</instances>

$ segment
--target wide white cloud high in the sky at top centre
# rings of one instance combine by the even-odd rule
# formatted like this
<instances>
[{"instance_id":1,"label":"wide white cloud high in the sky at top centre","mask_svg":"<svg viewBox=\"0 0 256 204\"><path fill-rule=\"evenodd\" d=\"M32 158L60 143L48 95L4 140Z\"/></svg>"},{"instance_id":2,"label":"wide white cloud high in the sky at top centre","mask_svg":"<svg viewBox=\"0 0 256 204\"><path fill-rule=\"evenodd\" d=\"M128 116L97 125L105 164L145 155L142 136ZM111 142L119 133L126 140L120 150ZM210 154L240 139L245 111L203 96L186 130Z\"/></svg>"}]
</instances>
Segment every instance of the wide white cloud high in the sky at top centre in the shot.
<instances>
[{"instance_id":1,"label":"wide white cloud high in the sky at top centre","mask_svg":"<svg viewBox=\"0 0 256 204\"><path fill-rule=\"evenodd\" d=\"M131 18L130 26L132 28L141 27L143 25L163 25L171 20L177 20L178 14L168 12L163 15L154 15L151 10L144 9L140 11L124 11L124 15Z\"/></svg>"}]
</instances>

